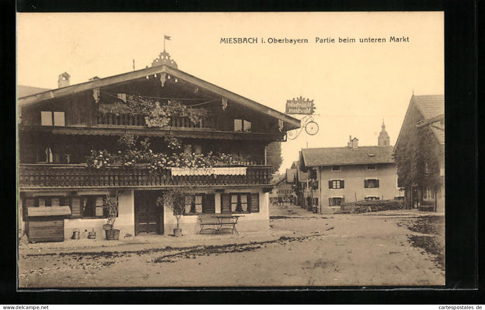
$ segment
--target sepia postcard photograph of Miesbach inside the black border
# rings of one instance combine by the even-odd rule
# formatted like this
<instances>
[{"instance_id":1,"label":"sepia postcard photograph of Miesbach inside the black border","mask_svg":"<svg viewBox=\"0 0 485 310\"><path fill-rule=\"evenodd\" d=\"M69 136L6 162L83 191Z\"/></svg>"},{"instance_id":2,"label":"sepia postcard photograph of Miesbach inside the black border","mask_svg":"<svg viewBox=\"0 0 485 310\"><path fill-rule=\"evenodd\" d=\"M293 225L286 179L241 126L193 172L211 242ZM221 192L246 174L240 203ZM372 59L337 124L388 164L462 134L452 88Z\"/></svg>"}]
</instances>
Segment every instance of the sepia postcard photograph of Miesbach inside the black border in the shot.
<instances>
[{"instance_id":1,"label":"sepia postcard photograph of Miesbach inside the black border","mask_svg":"<svg viewBox=\"0 0 485 310\"><path fill-rule=\"evenodd\" d=\"M16 19L17 290L445 285L443 12Z\"/></svg>"}]
</instances>

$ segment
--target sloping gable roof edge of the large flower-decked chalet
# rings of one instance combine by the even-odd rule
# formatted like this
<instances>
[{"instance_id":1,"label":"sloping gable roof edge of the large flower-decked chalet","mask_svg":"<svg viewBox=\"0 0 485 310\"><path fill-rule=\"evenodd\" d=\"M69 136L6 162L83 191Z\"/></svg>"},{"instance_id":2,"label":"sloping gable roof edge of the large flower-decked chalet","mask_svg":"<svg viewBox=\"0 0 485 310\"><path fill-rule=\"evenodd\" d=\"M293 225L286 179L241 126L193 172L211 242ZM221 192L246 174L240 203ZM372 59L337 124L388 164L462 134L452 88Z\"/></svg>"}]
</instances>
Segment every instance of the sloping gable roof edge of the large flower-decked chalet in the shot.
<instances>
[{"instance_id":1,"label":"sloping gable roof edge of the large flower-decked chalet","mask_svg":"<svg viewBox=\"0 0 485 310\"><path fill-rule=\"evenodd\" d=\"M242 97L236 93L228 91L212 83L206 82L202 79L196 78L186 72L178 70L169 65L152 66L141 70L114 75L107 78L97 79L89 82L83 82L80 84L70 85L70 86L66 86L66 87L62 87L54 90L47 90L41 93L18 98L17 104L19 107L29 106L29 105L37 104L43 100L48 100L52 98L62 98L62 97L80 93L86 90L114 85L117 83L127 82L130 80L135 80L139 78L145 78L146 76L159 74L159 73L167 73L171 76L193 83L197 87L207 89L223 98L234 101L249 109L280 119L284 122L286 130L292 130L300 127L300 120L294 117L278 112L275 109L262 105L254 100Z\"/></svg>"}]
</instances>

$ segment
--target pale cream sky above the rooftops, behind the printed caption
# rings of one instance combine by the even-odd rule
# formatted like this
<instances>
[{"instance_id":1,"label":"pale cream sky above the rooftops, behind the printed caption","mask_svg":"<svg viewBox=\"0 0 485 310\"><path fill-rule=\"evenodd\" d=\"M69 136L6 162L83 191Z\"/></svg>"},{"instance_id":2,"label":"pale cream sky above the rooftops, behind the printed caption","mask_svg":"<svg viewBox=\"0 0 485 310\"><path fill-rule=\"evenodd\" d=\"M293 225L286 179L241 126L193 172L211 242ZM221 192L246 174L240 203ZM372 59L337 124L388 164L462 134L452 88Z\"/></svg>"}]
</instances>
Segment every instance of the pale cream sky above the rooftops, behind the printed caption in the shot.
<instances>
[{"instance_id":1,"label":"pale cream sky above the rooftops, behind the printed caption","mask_svg":"<svg viewBox=\"0 0 485 310\"><path fill-rule=\"evenodd\" d=\"M56 88L151 65L166 49L178 68L285 111L303 96L320 131L283 143L280 171L302 147L377 145L385 119L393 145L409 99L444 94L442 12L374 13L20 13L18 84ZM317 44L315 37L409 36L409 43ZM307 44L221 44L221 37L307 38ZM296 115L302 118L303 115Z\"/></svg>"}]
</instances>

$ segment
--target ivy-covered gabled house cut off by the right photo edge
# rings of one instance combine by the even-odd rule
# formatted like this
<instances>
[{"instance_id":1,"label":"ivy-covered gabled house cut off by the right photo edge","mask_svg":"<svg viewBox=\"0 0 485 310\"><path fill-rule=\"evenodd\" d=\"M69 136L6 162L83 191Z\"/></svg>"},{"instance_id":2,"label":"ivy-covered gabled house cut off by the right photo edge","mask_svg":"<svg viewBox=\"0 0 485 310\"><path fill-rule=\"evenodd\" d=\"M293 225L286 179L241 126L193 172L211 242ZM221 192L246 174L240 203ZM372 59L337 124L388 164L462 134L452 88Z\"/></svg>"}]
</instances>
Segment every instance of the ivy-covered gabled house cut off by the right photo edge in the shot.
<instances>
[{"instance_id":1,"label":"ivy-covered gabled house cut off by the right photo edge","mask_svg":"<svg viewBox=\"0 0 485 310\"><path fill-rule=\"evenodd\" d=\"M445 211L445 99L413 96L394 147L404 205Z\"/></svg>"}]
</instances>

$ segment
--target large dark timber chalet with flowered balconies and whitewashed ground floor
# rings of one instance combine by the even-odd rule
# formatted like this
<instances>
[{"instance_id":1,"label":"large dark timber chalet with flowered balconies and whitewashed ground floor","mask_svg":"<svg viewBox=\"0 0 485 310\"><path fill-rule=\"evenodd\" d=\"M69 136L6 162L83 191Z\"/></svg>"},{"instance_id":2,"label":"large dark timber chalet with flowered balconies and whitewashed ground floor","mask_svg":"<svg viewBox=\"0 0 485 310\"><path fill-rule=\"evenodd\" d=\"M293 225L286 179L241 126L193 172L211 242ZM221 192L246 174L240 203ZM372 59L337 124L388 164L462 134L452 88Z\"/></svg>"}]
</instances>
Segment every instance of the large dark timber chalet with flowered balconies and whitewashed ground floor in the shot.
<instances>
[{"instance_id":1,"label":"large dark timber chalet with flowered balconies and whitewashed ground floor","mask_svg":"<svg viewBox=\"0 0 485 310\"><path fill-rule=\"evenodd\" d=\"M180 186L194 190L180 220L184 234L199 231L199 213L242 212L240 232L268 229L272 185L265 150L298 128L299 120L179 70L165 51L145 69L76 85L69 85L69 78L63 73L59 88L24 96L18 87L18 227L31 241L64 240L76 228L100 236L106 194L115 190L115 228L121 236L171 233L176 219L166 206L158 208L156 199ZM140 102L156 99L157 109L132 112L127 108L132 96ZM190 111L199 118L173 114L164 125L149 123L170 104L182 111L193 106ZM172 154L170 143L177 138L180 166L90 164L102 164L93 156L115 153L120 137L131 135L149 138L150 152L160 154ZM221 158L210 169L188 168L190 159L209 152L237 157L238 164Z\"/></svg>"}]
</instances>

